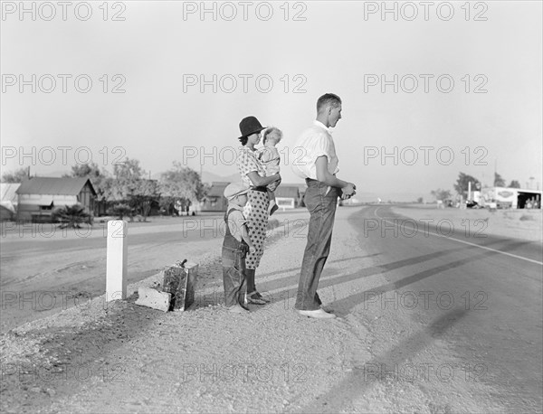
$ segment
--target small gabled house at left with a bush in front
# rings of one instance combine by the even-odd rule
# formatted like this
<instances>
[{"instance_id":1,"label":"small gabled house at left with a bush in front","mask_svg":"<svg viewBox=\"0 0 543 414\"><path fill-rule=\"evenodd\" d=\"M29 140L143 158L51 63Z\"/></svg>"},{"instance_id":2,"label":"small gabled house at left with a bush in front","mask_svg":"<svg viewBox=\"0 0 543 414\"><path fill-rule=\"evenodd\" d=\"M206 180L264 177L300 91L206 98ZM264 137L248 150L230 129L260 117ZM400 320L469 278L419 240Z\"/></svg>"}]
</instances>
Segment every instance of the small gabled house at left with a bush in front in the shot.
<instances>
[{"instance_id":1,"label":"small gabled house at left with a bush in front","mask_svg":"<svg viewBox=\"0 0 543 414\"><path fill-rule=\"evenodd\" d=\"M57 207L81 204L95 213L96 192L88 178L33 177L17 193L17 221L48 221Z\"/></svg>"}]
</instances>

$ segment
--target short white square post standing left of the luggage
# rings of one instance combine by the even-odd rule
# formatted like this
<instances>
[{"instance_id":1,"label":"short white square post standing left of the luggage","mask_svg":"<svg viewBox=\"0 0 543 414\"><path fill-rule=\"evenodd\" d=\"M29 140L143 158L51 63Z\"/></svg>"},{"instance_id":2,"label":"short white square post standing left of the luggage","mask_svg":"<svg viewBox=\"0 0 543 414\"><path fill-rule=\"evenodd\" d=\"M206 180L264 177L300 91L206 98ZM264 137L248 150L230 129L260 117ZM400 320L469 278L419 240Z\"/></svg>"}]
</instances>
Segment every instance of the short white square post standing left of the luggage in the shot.
<instances>
[{"instance_id":1,"label":"short white square post standing left of the luggage","mask_svg":"<svg viewBox=\"0 0 543 414\"><path fill-rule=\"evenodd\" d=\"M128 234L129 223L127 221L108 221L106 302L127 298Z\"/></svg>"}]
</instances>

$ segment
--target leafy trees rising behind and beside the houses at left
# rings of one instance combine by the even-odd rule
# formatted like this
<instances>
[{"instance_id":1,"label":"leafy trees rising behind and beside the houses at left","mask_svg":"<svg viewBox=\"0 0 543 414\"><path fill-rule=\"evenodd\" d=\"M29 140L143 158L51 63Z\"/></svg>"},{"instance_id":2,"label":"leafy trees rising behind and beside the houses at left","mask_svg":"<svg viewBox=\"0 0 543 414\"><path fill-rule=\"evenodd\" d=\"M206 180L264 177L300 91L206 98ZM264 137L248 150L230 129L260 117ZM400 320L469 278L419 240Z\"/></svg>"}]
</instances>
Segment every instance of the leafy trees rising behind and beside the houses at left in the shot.
<instances>
[{"instance_id":1,"label":"leafy trees rising behind and beside the houses at left","mask_svg":"<svg viewBox=\"0 0 543 414\"><path fill-rule=\"evenodd\" d=\"M97 202L119 215L141 214L146 220L151 207L158 205L168 214L176 206L186 208L200 202L208 191L194 170L174 162L172 168L160 174L158 180L148 178L137 159L126 158L113 165L113 173L95 163L73 165L64 177L88 177L97 193ZM28 178L26 168L2 175L4 183L21 183Z\"/></svg>"}]
</instances>

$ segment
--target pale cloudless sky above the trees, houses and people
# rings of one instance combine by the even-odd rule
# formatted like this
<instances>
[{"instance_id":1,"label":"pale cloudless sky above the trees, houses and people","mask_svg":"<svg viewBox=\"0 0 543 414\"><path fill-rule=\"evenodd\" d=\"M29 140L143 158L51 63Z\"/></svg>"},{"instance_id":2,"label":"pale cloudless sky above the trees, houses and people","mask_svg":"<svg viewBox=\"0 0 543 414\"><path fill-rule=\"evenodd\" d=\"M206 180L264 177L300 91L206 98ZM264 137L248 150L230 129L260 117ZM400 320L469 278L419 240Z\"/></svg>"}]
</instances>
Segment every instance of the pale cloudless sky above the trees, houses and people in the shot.
<instances>
[{"instance_id":1,"label":"pale cloudless sky above the trees, houses and people","mask_svg":"<svg viewBox=\"0 0 543 414\"><path fill-rule=\"evenodd\" d=\"M2 173L129 157L227 176L253 115L301 183L296 140L333 92L358 193L430 197L495 169L541 188L541 2L45 3L2 3Z\"/></svg>"}]
</instances>

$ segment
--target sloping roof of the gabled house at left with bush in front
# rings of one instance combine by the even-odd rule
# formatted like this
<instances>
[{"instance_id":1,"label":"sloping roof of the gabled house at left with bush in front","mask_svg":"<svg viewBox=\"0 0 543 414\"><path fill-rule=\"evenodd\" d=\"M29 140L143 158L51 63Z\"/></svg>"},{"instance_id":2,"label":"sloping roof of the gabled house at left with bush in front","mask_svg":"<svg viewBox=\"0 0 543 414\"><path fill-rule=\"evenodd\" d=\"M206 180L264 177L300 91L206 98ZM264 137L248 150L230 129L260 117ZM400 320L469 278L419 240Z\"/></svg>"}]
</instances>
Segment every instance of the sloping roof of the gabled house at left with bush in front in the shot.
<instances>
[{"instance_id":1,"label":"sloping roof of the gabled house at left with bush in front","mask_svg":"<svg viewBox=\"0 0 543 414\"><path fill-rule=\"evenodd\" d=\"M77 178L56 178L56 177L33 177L21 183L17 194L62 194L77 195L89 182L90 191L96 195L92 183L87 177Z\"/></svg>"}]
</instances>

